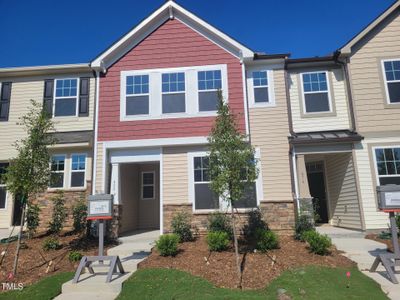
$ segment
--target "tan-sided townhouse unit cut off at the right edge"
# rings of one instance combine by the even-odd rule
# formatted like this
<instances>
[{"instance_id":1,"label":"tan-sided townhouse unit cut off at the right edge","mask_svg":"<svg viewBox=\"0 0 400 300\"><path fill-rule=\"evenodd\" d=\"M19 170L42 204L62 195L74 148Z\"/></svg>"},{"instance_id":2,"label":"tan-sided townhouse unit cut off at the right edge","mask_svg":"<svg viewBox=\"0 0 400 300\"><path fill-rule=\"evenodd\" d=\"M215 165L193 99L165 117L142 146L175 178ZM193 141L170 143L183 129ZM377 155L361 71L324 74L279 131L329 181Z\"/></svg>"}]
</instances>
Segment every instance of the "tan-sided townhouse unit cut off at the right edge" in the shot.
<instances>
[{"instance_id":1,"label":"tan-sided townhouse unit cut off at the right edge","mask_svg":"<svg viewBox=\"0 0 400 300\"><path fill-rule=\"evenodd\" d=\"M339 49L348 64L364 228L387 228L377 209L376 186L400 185L400 1Z\"/></svg>"}]
</instances>

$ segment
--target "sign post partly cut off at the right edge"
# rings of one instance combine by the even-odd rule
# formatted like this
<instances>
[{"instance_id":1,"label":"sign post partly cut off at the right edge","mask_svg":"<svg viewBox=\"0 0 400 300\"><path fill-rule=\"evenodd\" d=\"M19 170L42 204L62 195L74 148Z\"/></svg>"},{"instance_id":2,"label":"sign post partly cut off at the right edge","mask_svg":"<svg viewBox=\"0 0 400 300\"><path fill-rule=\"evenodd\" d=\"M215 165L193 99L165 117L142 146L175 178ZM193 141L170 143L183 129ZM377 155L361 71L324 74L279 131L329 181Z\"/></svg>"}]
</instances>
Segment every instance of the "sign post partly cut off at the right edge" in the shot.
<instances>
[{"instance_id":1,"label":"sign post partly cut off at the right edge","mask_svg":"<svg viewBox=\"0 0 400 300\"><path fill-rule=\"evenodd\" d=\"M398 238L398 229L396 224L395 212L400 212L400 186L384 185L377 187L378 207L380 210L389 213L390 232L392 235L393 253L379 254L371 266L370 272L375 272L379 264L385 267L390 280L398 284L395 275L395 267L400 265L400 247Z\"/></svg>"}]
</instances>

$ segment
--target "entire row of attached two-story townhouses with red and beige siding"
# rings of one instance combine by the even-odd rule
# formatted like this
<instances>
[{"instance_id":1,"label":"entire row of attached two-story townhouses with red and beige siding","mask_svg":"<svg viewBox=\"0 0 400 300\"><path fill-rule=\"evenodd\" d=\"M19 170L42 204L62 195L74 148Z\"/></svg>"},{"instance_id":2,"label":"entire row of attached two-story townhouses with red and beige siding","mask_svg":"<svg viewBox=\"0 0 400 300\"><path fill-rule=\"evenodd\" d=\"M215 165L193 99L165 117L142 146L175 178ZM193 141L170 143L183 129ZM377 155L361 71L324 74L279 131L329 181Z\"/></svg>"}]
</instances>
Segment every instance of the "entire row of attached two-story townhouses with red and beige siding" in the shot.
<instances>
[{"instance_id":1,"label":"entire row of attached two-story townhouses with red and beige siding","mask_svg":"<svg viewBox=\"0 0 400 300\"><path fill-rule=\"evenodd\" d=\"M167 1L88 64L0 69L0 172L24 136L30 99L55 122L51 184L36 201L69 206L114 196L115 235L170 229L187 211L200 229L224 211L209 186L207 136L217 91L256 148L260 174L236 206L290 231L313 199L319 222L387 228L376 186L400 185L400 2L326 57L252 51ZM0 228L21 204L0 183Z\"/></svg>"}]
</instances>

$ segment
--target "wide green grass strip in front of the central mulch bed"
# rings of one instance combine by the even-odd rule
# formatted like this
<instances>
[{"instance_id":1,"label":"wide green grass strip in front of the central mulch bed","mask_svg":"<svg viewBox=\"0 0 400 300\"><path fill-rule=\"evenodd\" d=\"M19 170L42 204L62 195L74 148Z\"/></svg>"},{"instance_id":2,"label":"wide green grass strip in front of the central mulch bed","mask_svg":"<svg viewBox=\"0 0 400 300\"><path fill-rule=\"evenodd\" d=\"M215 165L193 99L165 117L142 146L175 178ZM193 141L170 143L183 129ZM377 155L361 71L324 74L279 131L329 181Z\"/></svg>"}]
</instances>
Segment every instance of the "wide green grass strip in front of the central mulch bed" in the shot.
<instances>
[{"instance_id":1,"label":"wide green grass strip in front of the central mulch bed","mask_svg":"<svg viewBox=\"0 0 400 300\"><path fill-rule=\"evenodd\" d=\"M346 272L351 272L348 281ZM347 284L350 282L349 288ZM143 269L123 285L124 299L277 299L278 292L295 299L388 299L379 285L356 268L350 270L308 266L286 271L266 288L239 291L217 288L186 272L168 269Z\"/></svg>"}]
</instances>

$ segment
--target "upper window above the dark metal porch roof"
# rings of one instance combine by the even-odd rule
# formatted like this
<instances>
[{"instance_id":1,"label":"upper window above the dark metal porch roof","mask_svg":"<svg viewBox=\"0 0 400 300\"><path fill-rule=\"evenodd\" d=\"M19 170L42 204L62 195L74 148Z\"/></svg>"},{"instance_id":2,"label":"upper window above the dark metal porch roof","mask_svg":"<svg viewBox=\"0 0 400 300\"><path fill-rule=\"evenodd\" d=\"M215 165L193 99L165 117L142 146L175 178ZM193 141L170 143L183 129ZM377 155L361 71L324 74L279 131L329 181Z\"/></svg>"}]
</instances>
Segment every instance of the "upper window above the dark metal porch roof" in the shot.
<instances>
[{"instance_id":1,"label":"upper window above the dark metal porch roof","mask_svg":"<svg viewBox=\"0 0 400 300\"><path fill-rule=\"evenodd\" d=\"M301 74L303 84L304 112L331 112L327 72Z\"/></svg>"}]
</instances>

